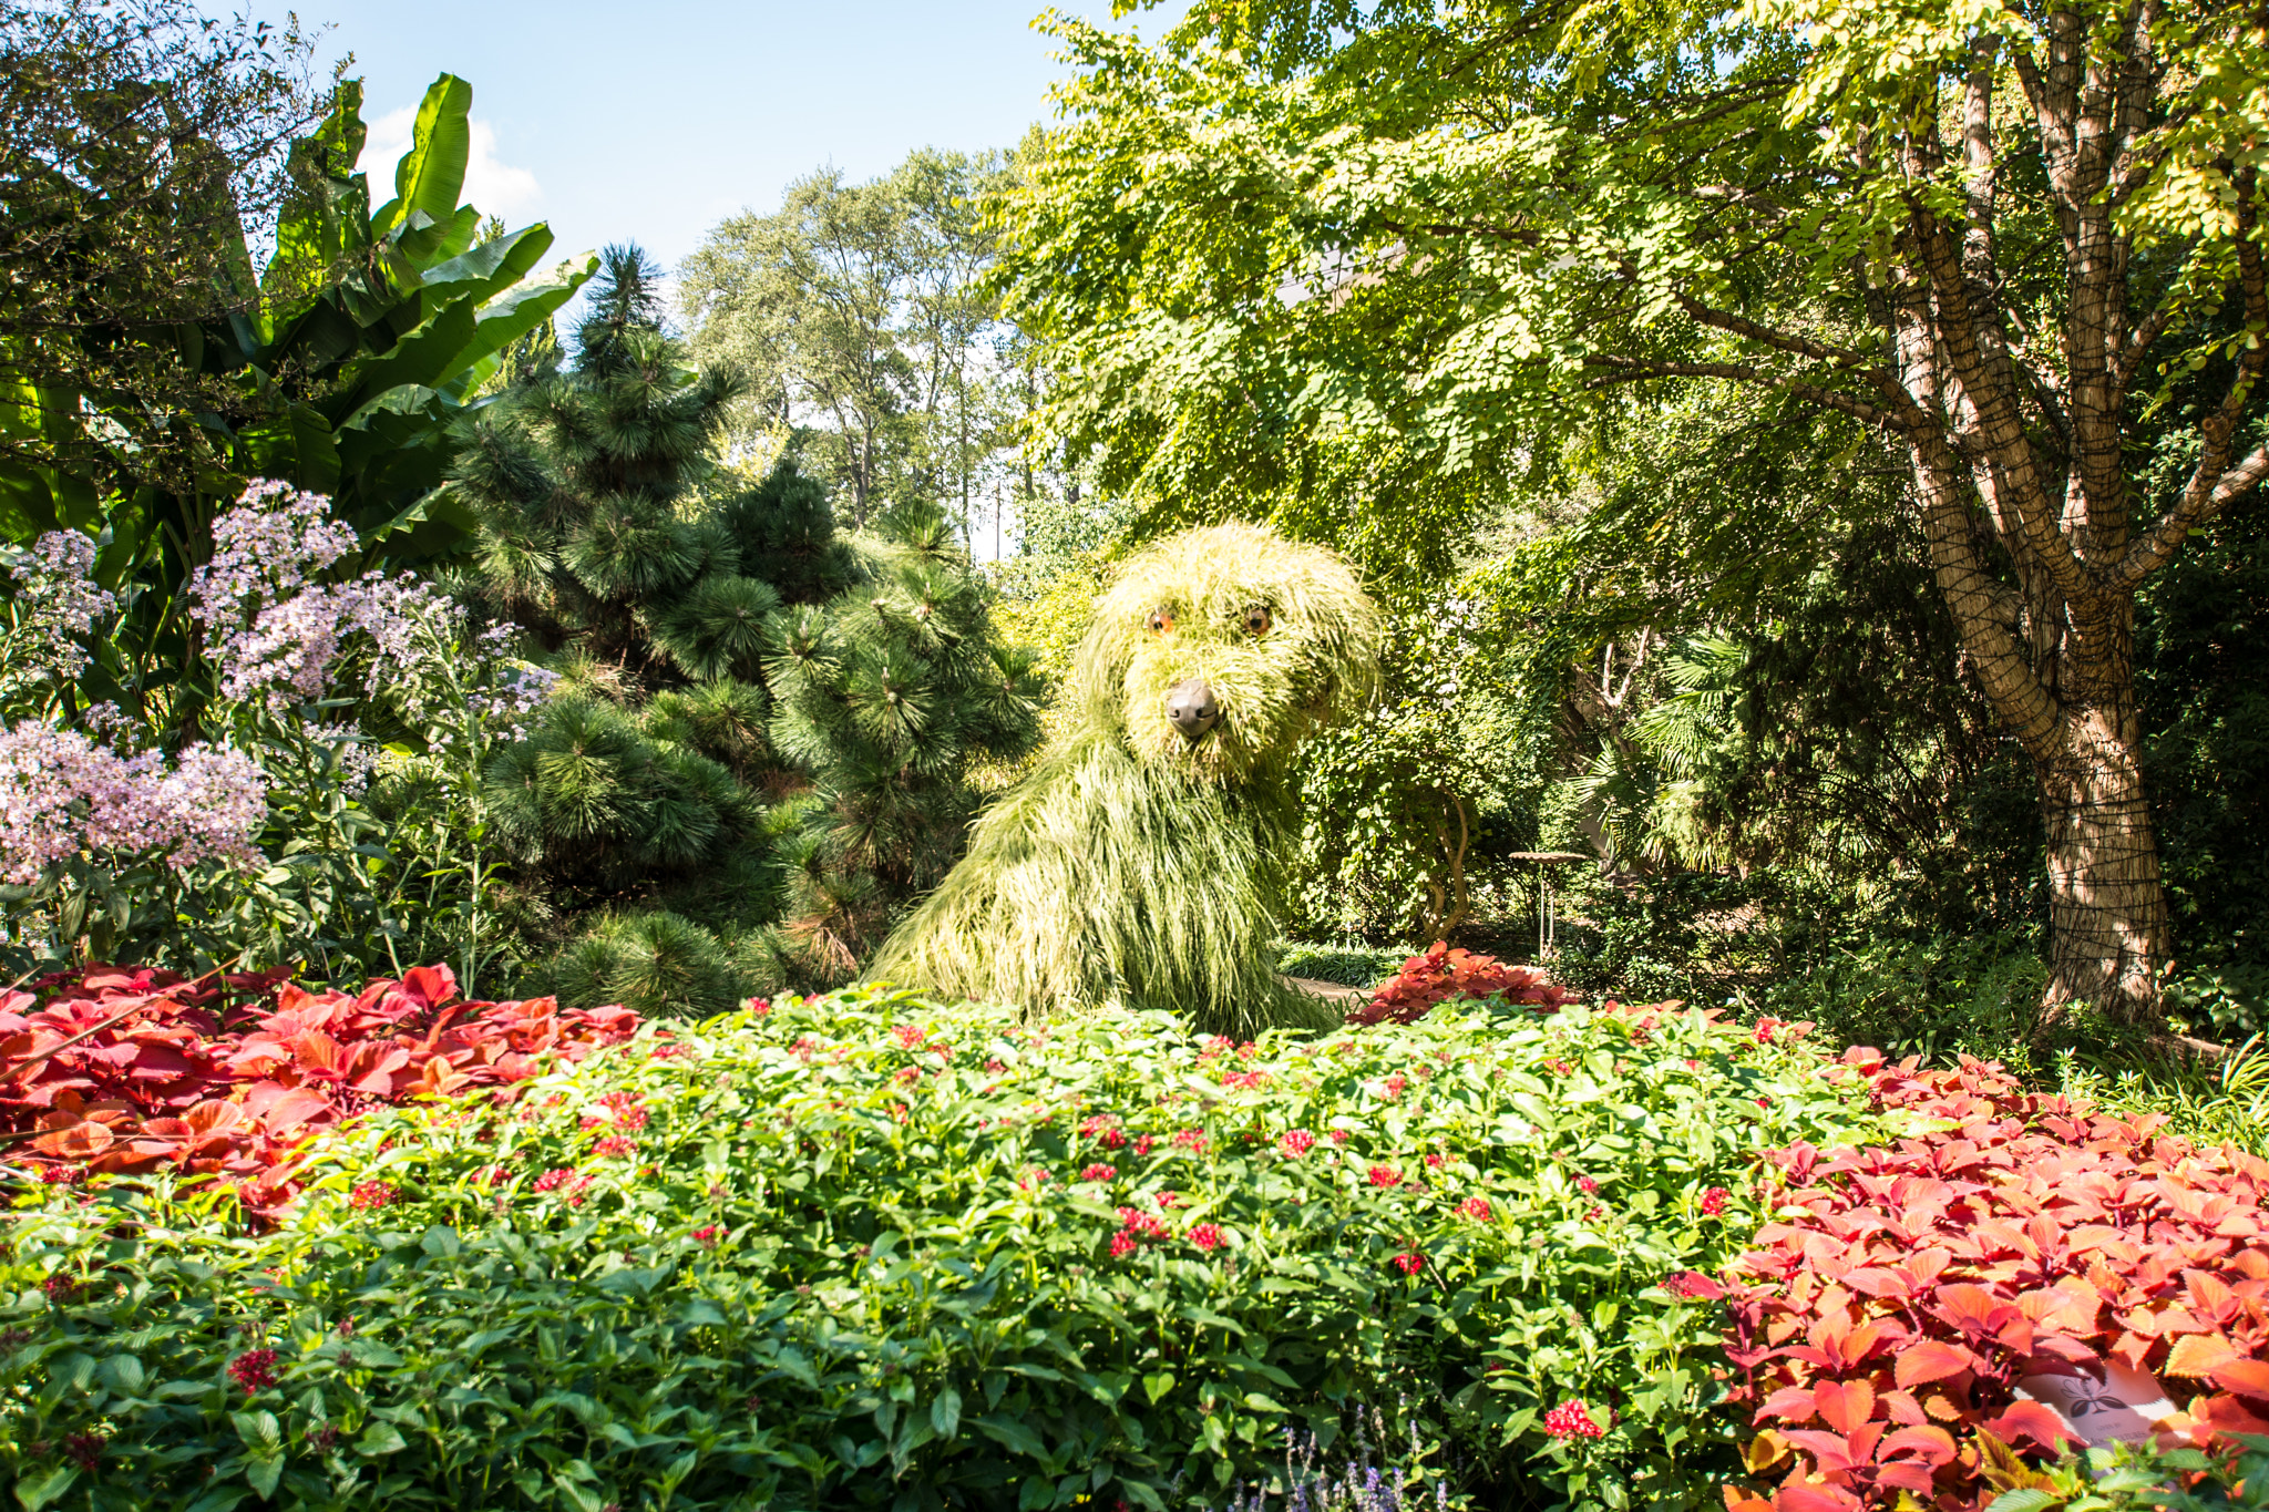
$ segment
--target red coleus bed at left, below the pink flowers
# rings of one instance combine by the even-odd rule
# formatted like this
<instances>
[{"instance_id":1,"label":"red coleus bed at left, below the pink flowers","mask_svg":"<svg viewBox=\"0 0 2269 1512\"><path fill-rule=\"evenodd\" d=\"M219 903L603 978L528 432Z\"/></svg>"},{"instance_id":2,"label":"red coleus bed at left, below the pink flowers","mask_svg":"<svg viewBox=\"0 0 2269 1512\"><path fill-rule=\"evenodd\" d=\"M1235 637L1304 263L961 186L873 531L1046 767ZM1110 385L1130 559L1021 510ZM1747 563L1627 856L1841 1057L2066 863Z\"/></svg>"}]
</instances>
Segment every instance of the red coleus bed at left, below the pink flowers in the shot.
<instances>
[{"instance_id":1,"label":"red coleus bed at left, below the pink flowers","mask_svg":"<svg viewBox=\"0 0 2269 1512\"><path fill-rule=\"evenodd\" d=\"M638 1029L619 1006L463 1002L447 966L356 995L281 977L91 966L0 993L0 1140L48 1181L170 1165L272 1213L297 1195L315 1129L383 1102L513 1084L547 1052L581 1059Z\"/></svg>"}]
</instances>

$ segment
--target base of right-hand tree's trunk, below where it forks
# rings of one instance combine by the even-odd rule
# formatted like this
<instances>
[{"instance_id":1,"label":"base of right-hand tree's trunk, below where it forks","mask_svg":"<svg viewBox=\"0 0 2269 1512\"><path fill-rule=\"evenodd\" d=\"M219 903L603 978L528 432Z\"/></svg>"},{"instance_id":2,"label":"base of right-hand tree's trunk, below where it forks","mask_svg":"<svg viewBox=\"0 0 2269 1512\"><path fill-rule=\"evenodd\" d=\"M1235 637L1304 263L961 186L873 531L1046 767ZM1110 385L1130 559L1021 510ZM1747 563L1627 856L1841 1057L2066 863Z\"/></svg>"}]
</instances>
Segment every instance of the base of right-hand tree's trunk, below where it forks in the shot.
<instances>
[{"instance_id":1,"label":"base of right-hand tree's trunk, below where it forks","mask_svg":"<svg viewBox=\"0 0 2269 1512\"><path fill-rule=\"evenodd\" d=\"M2133 694L2067 705L2058 723L2063 748L2035 762L2049 841L2047 1004L2092 1002L2149 1022L2171 934Z\"/></svg>"}]
</instances>

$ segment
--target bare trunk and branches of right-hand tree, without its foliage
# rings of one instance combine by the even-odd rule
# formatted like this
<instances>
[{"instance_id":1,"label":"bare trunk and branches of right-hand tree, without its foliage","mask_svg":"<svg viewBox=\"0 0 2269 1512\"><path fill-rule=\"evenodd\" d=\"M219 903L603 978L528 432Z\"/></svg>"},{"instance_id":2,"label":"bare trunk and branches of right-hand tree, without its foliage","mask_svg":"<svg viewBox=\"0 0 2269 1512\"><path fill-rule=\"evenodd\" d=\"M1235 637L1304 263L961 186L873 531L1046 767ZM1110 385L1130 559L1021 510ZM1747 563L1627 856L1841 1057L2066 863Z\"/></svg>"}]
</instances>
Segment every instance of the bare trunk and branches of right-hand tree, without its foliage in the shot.
<instances>
[{"instance_id":1,"label":"bare trunk and branches of right-hand tree, without its foliage","mask_svg":"<svg viewBox=\"0 0 2269 1512\"><path fill-rule=\"evenodd\" d=\"M1958 100L1924 82L1906 113L1913 125L1897 138L1861 138L1845 172L1890 181L1901 204L1888 265L1849 272L1883 347L1774 329L1684 295L1679 306L1695 322L1740 338L1756 360L1588 358L1606 369L1600 383L1711 376L1779 388L1904 447L1963 655L2040 780L2047 1002L2090 1002L2124 1020L2158 1016L2174 950L2142 780L2135 592L2190 530L2269 476L2269 447L2237 456L2269 363L2269 340L2255 340L2237 351L2219 404L2196 424L2181 494L2156 519L2137 519L2133 385L2181 320L2165 272L2167 292L2131 288L2133 238L2117 222L2117 206L2149 181L2162 152L2153 127L2167 63L2153 54L2156 20L2158 0L2133 0L2094 34L2097 23L2067 7L2042 18L2033 45L1981 36ZM2060 240L2053 299L2038 297L2049 290L2031 270L2004 267L1997 249L2006 147L1994 134L1994 86L2010 77L2038 136ZM2258 175L2224 168L2237 229L2233 292L2260 333L2269 331L2269 288L2255 240ZM1963 184L1958 204L1938 193L1949 177Z\"/></svg>"}]
</instances>

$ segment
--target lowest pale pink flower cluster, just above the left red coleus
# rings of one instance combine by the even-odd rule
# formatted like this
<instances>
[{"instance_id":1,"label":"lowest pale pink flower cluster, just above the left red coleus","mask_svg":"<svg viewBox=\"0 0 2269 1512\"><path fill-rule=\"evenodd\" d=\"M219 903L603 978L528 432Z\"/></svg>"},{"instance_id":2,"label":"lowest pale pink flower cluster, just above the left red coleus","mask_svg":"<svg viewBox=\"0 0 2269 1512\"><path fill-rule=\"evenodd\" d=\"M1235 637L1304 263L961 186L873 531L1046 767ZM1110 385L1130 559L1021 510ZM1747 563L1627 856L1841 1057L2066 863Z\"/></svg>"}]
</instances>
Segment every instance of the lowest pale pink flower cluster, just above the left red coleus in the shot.
<instances>
[{"instance_id":1,"label":"lowest pale pink flower cluster, just above the left red coleus","mask_svg":"<svg viewBox=\"0 0 2269 1512\"><path fill-rule=\"evenodd\" d=\"M0 732L0 877L29 886L82 850L159 852L175 868L259 861L268 780L252 757L191 746L123 757L77 730L23 721Z\"/></svg>"}]
</instances>

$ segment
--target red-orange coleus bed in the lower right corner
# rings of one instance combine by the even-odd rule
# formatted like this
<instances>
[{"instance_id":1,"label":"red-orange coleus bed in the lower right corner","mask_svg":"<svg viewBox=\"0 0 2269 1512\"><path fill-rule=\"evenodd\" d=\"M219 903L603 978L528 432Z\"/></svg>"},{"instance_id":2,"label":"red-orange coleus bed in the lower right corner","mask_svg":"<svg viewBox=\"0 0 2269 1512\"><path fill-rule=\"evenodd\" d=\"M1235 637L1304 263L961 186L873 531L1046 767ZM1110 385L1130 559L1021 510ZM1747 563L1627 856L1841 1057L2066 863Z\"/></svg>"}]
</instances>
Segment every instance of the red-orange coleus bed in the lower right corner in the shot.
<instances>
[{"instance_id":1,"label":"red-orange coleus bed in the lower right corner","mask_svg":"<svg viewBox=\"0 0 2269 1512\"><path fill-rule=\"evenodd\" d=\"M1790 1190L1731 1272L1727 1356L1779 1487L1731 1512L1983 1507L2010 1446L2076 1437L2047 1399L2142 1405L2153 1378L2183 1408L2160 1437L2269 1433L2269 1163L1976 1061L1831 1074L1938 1131L1772 1154Z\"/></svg>"}]
</instances>

